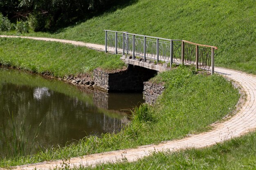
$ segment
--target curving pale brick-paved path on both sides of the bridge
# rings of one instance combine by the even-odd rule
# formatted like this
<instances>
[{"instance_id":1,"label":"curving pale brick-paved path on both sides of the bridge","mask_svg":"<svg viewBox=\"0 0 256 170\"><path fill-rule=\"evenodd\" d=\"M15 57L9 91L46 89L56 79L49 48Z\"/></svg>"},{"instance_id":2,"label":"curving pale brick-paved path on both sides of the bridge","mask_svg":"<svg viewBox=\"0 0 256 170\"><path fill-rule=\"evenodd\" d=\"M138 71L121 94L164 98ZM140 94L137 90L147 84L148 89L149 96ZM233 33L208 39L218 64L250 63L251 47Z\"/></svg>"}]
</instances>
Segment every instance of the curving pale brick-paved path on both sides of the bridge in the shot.
<instances>
[{"instance_id":1,"label":"curving pale brick-paved path on both sides of the bridge","mask_svg":"<svg viewBox=\"0 0 256 170\"><path fill-rule=\"evenodd\" d=\"M2 37L2 36L0 36ZM24 37L29 38L29 37ZM65 42L74 45L88 46L89 48L95 48L97 50L104 50L104 46L97 44L88 44L83 42L75 42L69 40L58 40L50 38L31 38L35 40L46 40L46 41L58 41ZM181 148L201 148L222 142L227 139L231 139L240 136L250 130L256 128L256 76L248 75L239 71L232 71L225 68L215 68L215 72L223 74L231 79L238 82L244 89L246 94L246 101L238 111L238 113L231 119L216 124L216 128L209 132L204 132L199 135L191 135L181 140L164 141L159 145L147 145L141 146L135 149L118 150L112 152L103 152L100 154L92 154L83 157L71 158L70 168L74 166L93 166L97 163L112 162L115 163L117 160L126 157L128 161L136 161L139 158L149 155L151 152L162 151L169 149L171 151L179 150ZM33 169L44 169L61 167L63 161L48 161L37 164L30 164L25 166L13 167L15 170L33 170Z\"/></svg>"}]
</instances>

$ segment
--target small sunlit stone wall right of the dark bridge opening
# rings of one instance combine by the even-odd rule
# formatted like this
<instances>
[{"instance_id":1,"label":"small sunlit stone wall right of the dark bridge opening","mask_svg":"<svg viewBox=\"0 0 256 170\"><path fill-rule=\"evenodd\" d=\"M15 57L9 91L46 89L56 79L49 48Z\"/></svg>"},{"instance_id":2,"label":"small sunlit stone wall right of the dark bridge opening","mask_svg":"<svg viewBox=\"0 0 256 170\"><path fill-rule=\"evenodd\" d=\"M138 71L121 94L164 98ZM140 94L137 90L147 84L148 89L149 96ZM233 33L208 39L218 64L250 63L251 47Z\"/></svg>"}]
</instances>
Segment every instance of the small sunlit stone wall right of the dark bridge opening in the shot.
<instances>
[{"instance_id":1,"label":"small sunlit stone wall right of the dark bridge opening","mask_svg":"<svg viewBox=\"0 0 256 170\"><path fill-rule=\"evenodd\" d=\"M153 84L151 82L144 82L143 96L145 103L154 104L157 97L164 91L162 84Z\"/></svg>"}]
</instances>

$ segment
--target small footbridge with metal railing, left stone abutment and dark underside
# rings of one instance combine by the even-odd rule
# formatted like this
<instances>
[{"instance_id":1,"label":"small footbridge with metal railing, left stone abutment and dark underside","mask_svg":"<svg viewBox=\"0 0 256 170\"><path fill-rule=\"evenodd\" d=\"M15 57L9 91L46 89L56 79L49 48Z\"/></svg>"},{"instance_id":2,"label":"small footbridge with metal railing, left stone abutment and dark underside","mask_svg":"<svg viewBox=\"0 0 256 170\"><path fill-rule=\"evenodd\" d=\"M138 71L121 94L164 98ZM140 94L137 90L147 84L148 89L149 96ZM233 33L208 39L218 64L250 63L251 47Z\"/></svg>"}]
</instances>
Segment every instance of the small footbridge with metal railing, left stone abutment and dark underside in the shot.
<instances>
[{"instance_id":1,"label":"small footbridge with metal railing, left stone abutment and dark underside","mask_svg":"<svg viewBox=\"0 0 256 170\"><path fill-rule=\"evenodd\" d=\"M216 46L128 32L104 31L105 52L121 53L121 60L128 64L127 69L115 73L94 70L95 86L106 91L145 92L145 82L157 72L170 70L172 64L195 65L197 70L214 73ZM149 94L153 95L152 92Z\"/></svg>"}]
</instances>

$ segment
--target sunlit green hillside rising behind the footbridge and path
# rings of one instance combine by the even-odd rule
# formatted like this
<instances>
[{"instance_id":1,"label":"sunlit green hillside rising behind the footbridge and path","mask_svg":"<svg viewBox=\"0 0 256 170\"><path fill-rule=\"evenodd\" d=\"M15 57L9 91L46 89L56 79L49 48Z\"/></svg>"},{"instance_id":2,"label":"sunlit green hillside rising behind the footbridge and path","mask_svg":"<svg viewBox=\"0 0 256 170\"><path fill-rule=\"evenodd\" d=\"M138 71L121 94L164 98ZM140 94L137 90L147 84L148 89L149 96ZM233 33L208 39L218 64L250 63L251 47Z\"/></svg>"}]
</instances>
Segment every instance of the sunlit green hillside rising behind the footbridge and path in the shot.
<instances>
[{"instance_id":1,"label":"sunlit green hillside rising behind the footbridge and path","mask_svg":"<svg viewBox=\"0 0 256 170\"><path fill-rule=\"evenodd\" d=\"M56 33L28 35L103 44L104 29L218 46L217 66L256 74L255 0L138 0Z\"/></svg>"}]
</instances>

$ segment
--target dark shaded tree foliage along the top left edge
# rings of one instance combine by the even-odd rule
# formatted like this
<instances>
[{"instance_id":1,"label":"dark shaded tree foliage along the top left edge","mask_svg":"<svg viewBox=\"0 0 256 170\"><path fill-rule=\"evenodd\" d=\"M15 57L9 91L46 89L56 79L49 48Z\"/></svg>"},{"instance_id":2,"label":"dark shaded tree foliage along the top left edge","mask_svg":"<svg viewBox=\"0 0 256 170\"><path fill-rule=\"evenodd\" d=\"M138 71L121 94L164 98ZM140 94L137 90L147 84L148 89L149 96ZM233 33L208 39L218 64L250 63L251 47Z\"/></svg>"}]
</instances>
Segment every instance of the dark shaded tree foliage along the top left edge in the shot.
<instances>
[{"instance_id":1,"label":"dark shaded tree foliage along the top left edge","mask_svg":"<svg viewBox=\"0 0 256 170\"><path fill-rule=\"evenodd\" d=\"M12 19L30 20L34 31L46 31L98 15L113 4L126 3L126 0L3 0L0 12Z\"/></svg>"}]
</instances>

